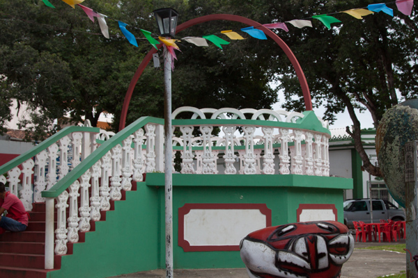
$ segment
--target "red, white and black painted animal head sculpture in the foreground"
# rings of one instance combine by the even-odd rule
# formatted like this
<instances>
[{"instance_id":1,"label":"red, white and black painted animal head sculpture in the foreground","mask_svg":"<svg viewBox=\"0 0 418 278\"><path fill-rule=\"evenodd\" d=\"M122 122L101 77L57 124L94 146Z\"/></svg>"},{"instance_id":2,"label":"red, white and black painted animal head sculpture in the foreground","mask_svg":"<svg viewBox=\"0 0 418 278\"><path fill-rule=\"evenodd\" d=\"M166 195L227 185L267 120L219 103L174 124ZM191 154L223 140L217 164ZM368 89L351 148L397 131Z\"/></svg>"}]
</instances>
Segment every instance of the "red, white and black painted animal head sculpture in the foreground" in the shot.
<instances>
[{"instance_id":1,"label":"red, white and black painted animal head sculpture in the foreground","mask_svg":"<svg viewBox=\"0 0 418 278\"><path fill-rule=\"evenodd\" d=\"M300 222L254 231L240 250L250 278L338 278L354 239L339 222Z\"/></svg>"}]
</instances>

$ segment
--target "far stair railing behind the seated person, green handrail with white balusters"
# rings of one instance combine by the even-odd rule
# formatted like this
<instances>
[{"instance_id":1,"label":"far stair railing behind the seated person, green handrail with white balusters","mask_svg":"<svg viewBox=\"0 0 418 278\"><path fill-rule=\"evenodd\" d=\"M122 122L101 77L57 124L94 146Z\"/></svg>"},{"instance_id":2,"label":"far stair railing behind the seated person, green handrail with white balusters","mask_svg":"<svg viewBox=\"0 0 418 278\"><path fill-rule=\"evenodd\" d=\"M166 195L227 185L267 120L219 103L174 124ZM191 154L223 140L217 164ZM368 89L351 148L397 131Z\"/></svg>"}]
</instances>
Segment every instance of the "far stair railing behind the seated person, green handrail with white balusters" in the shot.
<instances>
[{"instance_id":1,"label":"far stair railing behind the seated person, green handrail with white balusters","mask_svg":"<svg viewBox=\"0 0 418 278\"><path fill-rule=\"evenodd\" d=\"M0 181L20 196L26 211L33 202L45 202L41 192L52 188L97 147L99 128L68 126L40 142L28 152L1 165ZM7 178L6 178L7 175Z\"/></svg>"}]
</instances>

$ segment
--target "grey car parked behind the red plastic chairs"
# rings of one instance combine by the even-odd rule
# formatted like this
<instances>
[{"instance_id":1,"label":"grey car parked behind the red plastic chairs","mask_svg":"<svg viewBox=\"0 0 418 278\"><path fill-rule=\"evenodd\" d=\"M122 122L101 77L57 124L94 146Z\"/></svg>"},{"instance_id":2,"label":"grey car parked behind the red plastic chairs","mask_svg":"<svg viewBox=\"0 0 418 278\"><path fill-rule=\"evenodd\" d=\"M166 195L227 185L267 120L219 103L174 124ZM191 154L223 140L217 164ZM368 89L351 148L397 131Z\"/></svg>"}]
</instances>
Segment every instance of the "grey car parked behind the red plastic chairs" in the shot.
<instances>
[{"instance_id":1,"label":"grey car parked behind the red plastic chairs","mask_svg":"<svg viewBox=\"0 0 418 278\"><path fill-rule=\"evenodd\" d=\"M405 220L405 212L391 202L373 199L373 223L383 220ZM344 224L353 228L353 221L370 223L370 199L348 199L343 203Z\"/></svg>"}]
</instances>

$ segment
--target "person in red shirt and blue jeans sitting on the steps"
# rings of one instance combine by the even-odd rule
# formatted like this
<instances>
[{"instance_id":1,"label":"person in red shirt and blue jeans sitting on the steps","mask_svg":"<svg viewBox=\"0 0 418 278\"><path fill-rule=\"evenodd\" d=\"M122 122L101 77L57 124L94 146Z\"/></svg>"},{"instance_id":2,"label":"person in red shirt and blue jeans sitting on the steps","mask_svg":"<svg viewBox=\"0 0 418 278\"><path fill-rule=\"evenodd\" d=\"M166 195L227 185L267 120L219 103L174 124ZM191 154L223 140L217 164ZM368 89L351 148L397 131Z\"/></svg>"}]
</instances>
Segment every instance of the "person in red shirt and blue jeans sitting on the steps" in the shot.
<instances>
[{"instance_id":1,"label":"person in red shirt and blue jeans sitting on the steps","mask_svg":"<svg viewBox=\"0 0 418 278\"><path fill-rule=\"evenodd\" d=\"M2 216L7 211L6 216ZM4 183L0 182L0 234L5 231L24 231L28 227L29 214L26 213L22 201L6 192Z\"/></svg>"}]
</instances>

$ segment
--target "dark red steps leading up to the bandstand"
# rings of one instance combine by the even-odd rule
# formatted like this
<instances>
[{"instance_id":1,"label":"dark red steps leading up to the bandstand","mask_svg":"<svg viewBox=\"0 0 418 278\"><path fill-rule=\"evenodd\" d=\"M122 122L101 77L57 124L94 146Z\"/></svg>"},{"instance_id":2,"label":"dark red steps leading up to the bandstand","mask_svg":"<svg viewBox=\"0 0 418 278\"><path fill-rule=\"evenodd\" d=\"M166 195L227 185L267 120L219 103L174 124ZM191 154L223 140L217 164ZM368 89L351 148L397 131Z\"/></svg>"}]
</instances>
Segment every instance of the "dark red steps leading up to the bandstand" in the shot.
<instances>
[{"instance_id":1,"label":"dark red steps leading up to the bandstand","mask_svg":"<svg viewBox=\"0 0 418 278\"><path fill-rule=\"evenodd\" d=\"M132 182L132 190L137 190L136 182ZM121 193L121 200L125 200L126 191L122 190ZM110 211L114 211L114 201L110 201L110 205ZM106 211L100 211L100 213L100 221L106 220ZM56 221L56 214L54 218ZM91 230L87 233L95 231L95 222L91 221L90 224ZM67 243L68 253L65 256L72 254L73 245L84 243L85 235L86 232L79 232L78 243ZM0 235L1 278L46 278L47 272L61 268L61 257L55 255L54 269L45 270L45 203L33 203L26 231L6 231Z\"/></svg>"}]
</instances>

